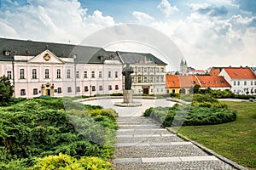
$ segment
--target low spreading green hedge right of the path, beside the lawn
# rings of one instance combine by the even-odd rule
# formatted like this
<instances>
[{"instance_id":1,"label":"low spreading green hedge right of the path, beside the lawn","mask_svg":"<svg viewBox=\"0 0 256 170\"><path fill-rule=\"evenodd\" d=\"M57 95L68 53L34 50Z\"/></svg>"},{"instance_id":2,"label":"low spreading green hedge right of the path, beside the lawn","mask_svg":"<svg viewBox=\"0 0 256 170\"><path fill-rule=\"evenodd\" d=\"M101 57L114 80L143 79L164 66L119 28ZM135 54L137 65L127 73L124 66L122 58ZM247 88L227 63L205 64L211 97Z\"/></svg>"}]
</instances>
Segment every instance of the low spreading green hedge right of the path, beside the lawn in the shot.
<instances>
[{"instance_id":1,"label":"low spreading green hedge right of the path, beside the lawn","mask_svg":"<svg viewBox=\"0 0 256 170\"><path fill-rule=\"evenodd\" d=\"M150 116L163 127L212 125L236 120L236 111L225 108L174 105L173 107L149 108L144 116Z\"/></svg>"}]
</instances>

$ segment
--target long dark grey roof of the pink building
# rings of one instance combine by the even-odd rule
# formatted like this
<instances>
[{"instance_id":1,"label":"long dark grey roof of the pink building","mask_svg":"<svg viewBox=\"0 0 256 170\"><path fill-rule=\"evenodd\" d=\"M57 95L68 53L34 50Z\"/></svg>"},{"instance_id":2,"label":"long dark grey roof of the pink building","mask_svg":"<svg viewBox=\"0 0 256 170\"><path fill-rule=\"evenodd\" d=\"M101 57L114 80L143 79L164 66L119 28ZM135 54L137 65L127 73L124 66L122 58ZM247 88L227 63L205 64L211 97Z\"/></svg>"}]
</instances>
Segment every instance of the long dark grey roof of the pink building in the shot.
<instances>
[{"instance_id":1,"label":"long dark grey roof of the pink building","mask_svg":"<svg viewBox=\"0 0 256 170\"><path fill-rule=\"evenodd\" d=\"M106 59L109 58L108 52L103 48L0 38L0 60L3 61L14 59L14 55L36 56L44 52L45 49L49 49L49 51L61 58L71 58L73 54L76 54L76 63L102 64L103 60L100 56ZM9 51L10 56L5 56L4 51Z\"/></svg>"}]
</instances>

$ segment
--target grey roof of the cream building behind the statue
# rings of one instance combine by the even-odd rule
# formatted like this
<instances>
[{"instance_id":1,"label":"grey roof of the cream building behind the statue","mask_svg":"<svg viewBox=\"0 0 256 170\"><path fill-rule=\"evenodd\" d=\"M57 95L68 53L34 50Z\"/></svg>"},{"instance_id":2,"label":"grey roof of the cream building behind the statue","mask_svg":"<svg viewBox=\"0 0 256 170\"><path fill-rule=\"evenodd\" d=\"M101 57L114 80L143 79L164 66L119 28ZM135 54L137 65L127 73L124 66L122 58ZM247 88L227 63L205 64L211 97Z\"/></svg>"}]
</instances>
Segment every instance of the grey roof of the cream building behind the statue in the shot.
<instances>
[{"instance_id":1,"label":"grey roof of the cream building behind the statue","mask_svg":"<svg viewBox=\"0 0 256 170\"><path fill-rule=\"evenodd\" d=\"M165 62L156 58L153 54L133 53L133 52L117 52L119 57L123 60L124 64L156 64L166 65Z\"/></svg>"}]
</instances>

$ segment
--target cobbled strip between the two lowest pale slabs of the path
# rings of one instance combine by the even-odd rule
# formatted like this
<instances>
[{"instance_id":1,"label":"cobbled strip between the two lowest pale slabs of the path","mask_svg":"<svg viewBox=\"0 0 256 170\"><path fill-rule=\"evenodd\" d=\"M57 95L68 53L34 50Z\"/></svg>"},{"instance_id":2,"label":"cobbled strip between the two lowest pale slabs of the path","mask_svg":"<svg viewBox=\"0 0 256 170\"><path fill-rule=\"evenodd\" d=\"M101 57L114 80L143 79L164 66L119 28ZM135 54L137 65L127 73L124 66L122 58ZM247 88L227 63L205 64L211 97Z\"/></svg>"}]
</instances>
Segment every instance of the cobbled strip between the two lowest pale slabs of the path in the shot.
<instances>
[{"instance_id":1,"label":"cobbled strip between the two lowest pale slabs of the path","mask_svg":"<svg viewBox=\"0 0 256 170\"><path fill-rule=\"evenodd\" d=\"M115 147L114 158L207 156L194 144Z\"/></svg>"}]
</instances>

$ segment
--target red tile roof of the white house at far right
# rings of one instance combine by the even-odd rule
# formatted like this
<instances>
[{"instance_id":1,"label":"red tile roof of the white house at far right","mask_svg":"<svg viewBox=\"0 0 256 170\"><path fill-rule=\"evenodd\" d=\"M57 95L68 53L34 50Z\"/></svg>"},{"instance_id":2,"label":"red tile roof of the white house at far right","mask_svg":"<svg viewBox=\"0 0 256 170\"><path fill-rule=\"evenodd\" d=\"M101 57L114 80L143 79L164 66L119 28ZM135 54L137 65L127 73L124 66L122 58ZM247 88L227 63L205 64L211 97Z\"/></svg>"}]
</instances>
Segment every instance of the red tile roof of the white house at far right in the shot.
<instances>
[{"instance_id":1,"label":"red tile roof of the white house at far right","mask_svg":"<svg viewBox=\"0 0 256 170\"><path fill-rule=\"evenodd\" d=\"M253 71L248 67L224 68L231 79L256 79Z\"/></svg>"}]
</instances>

